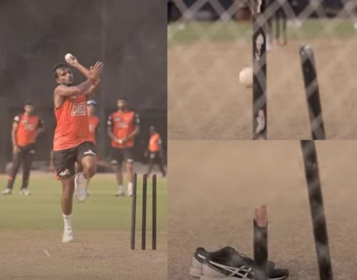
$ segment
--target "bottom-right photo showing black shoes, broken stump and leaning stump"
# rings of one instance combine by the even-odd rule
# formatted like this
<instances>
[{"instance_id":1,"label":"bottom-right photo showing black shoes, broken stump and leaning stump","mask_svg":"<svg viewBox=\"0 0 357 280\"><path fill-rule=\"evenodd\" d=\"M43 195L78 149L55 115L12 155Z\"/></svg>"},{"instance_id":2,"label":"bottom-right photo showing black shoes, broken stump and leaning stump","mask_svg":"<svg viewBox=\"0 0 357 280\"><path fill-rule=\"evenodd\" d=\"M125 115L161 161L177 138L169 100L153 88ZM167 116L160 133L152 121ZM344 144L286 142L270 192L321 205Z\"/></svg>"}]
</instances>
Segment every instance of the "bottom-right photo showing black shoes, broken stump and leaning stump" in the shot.
<instances>
[{"instance_id":1,"label":"bottom-right photo showing black shoes, broken stump and leaning stump","mask_svg":"<svg viewBox=\"0 0 357 280\"><path fill-rule=\"evenodd\" d=\"M169 141L169 278L353 279L356 141Z\"/></svg>"}]
</instances>

